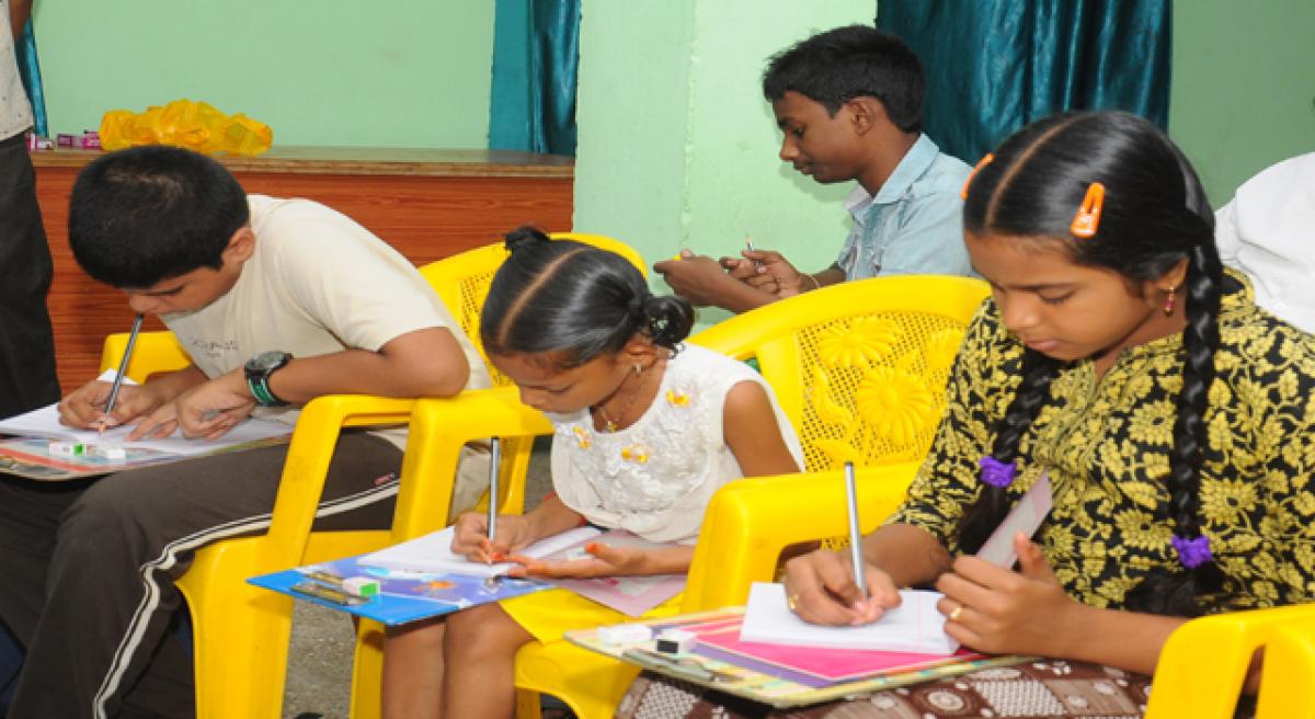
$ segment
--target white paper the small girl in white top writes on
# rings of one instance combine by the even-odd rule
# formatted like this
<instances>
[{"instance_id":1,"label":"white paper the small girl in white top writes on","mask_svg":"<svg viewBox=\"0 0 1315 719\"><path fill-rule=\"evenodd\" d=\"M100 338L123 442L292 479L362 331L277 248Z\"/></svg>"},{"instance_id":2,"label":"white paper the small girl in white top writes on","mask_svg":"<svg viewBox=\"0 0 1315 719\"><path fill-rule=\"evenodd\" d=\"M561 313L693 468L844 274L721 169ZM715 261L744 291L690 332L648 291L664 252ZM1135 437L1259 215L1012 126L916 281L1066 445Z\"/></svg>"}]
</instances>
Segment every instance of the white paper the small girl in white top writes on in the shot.
<instances>
[{"instance_id":1,"label":"white paper the small girl in white top writes on","mask_svg":"<svg viewBox=\"0 0 1315 719\"><path fill-rule=\"evenodd\" d=\"M402 572L427 572L434 574L466 574L472 577L496 577L506 574L509 569L517 567L505 561L498 564L483 564L471 561L462 555L452 553L452 535L455 527L447 527L425 536L417 536L401 544L393 544L377 552L360 557L359 563L366 567L381 567ZM579 544L602 534L594 527L577 527L564 531L530 544L518 555L533 559L543 559L551 553L560 552L572 544Z\"/></svg>"}]
</instances>

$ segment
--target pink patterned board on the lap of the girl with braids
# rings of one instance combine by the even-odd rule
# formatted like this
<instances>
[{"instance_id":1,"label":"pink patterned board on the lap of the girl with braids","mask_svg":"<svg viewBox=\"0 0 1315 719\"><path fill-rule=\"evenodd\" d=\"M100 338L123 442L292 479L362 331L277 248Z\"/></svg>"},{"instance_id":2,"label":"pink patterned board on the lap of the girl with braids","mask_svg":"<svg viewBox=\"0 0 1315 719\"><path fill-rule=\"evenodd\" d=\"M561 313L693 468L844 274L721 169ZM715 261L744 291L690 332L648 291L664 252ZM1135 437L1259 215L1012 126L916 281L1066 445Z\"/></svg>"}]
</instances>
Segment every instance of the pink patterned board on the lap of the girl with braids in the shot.
<instances>
[{"instance_id":1,"label":"pink patterned board on the lap of the girl with braids","mask_svg":"<svg viewBox=\"0 0 1315 719\"><path fill-rule=\"evenodd\" d=\"M696 645L681 655L659 653L652 640L611 644L598 639L597 630L569 631L565 638L659 674L781 708L1028 661L964 649L944 656L747 643L739 640L743 614L744 607L727 607L644 622L654 634L671 627L693 632Z\"/></svg>"}]
</instances>

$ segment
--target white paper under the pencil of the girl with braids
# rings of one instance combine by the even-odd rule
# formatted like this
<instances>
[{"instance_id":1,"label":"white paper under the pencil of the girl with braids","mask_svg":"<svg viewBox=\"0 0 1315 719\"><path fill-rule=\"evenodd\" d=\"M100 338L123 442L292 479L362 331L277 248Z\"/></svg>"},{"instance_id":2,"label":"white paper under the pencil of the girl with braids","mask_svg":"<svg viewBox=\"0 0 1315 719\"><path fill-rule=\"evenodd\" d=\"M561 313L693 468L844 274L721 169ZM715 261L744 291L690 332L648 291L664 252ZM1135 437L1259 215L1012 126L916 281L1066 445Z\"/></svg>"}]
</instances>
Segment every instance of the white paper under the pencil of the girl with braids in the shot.
<instances>
[{"instance_id":1,"label":"white paper under the pencil of the girl with braids","mask_svg":"<svg viewBox=\"0 0 1315 719\"><path fill-rule=\"evenodd\" d=\"M939 591L903 589L901 603L881 619L859 627L809 624L785 603L785 586L753 582L740 624L740 641L763 641L830 649L864 649L952 655L959 643L945 634L945 618L936 611Z\"/></svg>"}]
</instances>

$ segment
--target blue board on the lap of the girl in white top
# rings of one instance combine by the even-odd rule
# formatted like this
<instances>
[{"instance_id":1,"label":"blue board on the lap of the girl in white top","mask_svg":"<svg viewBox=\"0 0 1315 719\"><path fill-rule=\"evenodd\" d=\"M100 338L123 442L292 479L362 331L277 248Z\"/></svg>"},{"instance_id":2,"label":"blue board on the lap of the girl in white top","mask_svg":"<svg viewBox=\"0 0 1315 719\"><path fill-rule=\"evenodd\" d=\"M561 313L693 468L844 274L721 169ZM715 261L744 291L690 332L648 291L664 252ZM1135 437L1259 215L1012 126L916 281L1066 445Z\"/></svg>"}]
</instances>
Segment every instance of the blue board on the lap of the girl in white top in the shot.
<instances>
[{"instance_id":1,"label":"blue board on the lap of the girl in white top","mask_svg":"<svg viewBox=\"0 0 1315 719\"><path fill-rule=\"evenodd\" d=\"M538 580L383 569L360 564L362 556L274 572L247 581L389 627L552 588ZM377 581L379 594L370 598L351 595L343 582L354 577Z\"/></svg>"}]
</instances>

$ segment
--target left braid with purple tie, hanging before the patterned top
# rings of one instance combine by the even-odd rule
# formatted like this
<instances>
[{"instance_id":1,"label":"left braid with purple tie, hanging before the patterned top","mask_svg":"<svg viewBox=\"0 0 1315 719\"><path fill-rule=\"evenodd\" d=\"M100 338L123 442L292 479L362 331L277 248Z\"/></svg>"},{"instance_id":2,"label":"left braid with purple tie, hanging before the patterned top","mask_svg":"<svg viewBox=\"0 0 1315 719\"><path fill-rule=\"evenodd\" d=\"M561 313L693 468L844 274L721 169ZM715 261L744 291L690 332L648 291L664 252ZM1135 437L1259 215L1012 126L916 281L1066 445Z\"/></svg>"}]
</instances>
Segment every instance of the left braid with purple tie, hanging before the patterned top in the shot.
<instances>
[{"instance_id":1,"label":"left braid with purple tie, hanging before the patterned top","mask_svg":"<svg viewBox=\"0 0 1315 719\"><path fill-rule=\"evenodd\" d=\"M1024 350L1022 364L1023 381L1010 400L1005 415L995 425L995 442L990 452L993 459L1006 465L1016 463L1019 443L1045 406L1051 381L1055 380L1063 363L1040 352ZM960 549L969 553L980 549L990 532L1005 521L1009 507L1010 501L1003 486L982 482L977 501L964 510L960 519Z\"/></svg>"}]
</instances>

